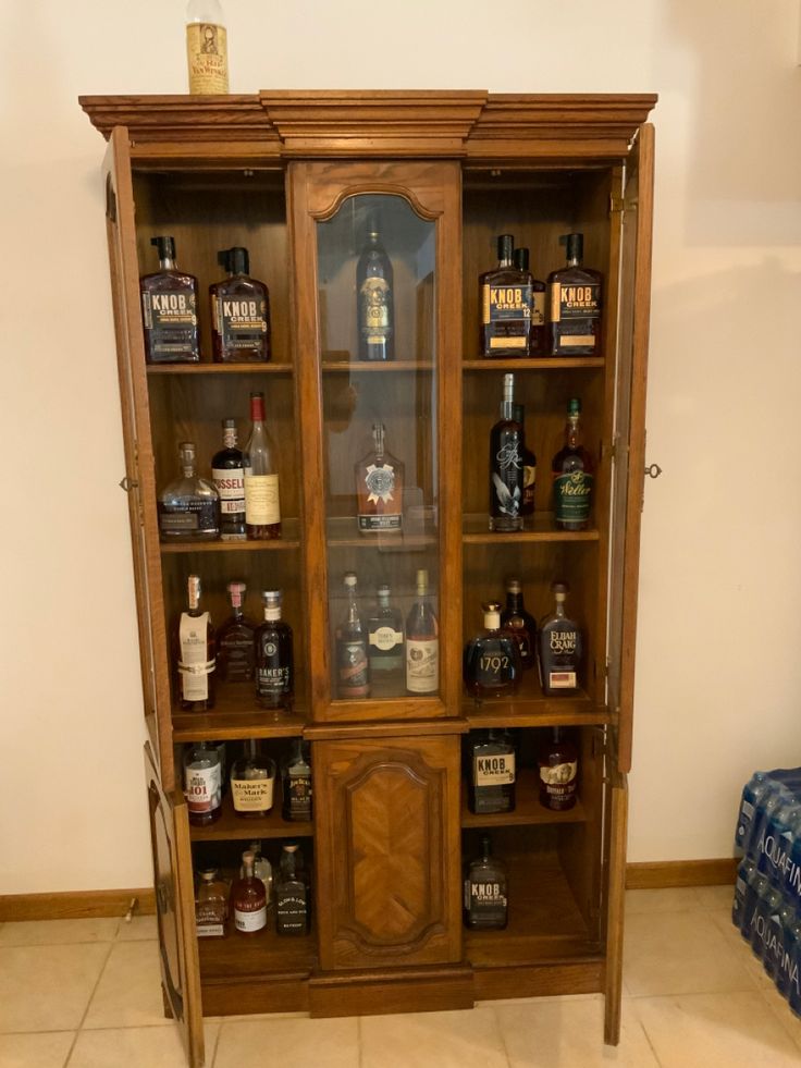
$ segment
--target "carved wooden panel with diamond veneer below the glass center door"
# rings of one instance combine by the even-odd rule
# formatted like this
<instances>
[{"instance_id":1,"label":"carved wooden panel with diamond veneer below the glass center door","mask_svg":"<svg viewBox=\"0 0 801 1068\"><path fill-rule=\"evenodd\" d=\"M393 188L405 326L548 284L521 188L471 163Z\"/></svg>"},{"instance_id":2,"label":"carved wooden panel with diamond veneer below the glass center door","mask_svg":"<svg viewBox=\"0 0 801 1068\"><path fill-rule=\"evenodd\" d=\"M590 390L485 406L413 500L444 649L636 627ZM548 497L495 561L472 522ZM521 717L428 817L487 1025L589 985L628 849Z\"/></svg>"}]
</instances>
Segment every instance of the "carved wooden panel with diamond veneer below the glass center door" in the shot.
<instances>
[{"instance_id":1,"label":"carved wooden panel with diamond veneer below the glass center door","mask_svg":"<svg viewBox=\"0 0 801 1068\"><path fill-rule=\"evenodd\" d=\"M456 737L315 744L324 969L460 956Z\"/></svg>"}]
</instances>

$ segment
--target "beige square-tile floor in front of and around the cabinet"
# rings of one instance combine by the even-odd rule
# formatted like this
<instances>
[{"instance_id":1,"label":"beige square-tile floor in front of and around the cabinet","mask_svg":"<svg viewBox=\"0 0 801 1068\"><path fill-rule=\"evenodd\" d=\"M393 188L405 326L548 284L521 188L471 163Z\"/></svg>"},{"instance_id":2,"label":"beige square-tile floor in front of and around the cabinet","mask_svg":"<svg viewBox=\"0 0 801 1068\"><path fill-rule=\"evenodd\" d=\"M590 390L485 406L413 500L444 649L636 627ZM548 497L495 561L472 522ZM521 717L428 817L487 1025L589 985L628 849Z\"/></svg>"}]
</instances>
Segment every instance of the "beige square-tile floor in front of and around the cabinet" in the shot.
<instances>
[{"instance_id":1,"label":"beige square-tile floor in front of and around the cabinet","mask_svg":"<svg viewBox=\"0 0 801 1068\"><path fill-rule=\"evenodd\" d=\"M209 1068L801 1066L791 1016L729 918L731 888L629 891L620 1045L600 995L465 1012L206 1023ZM150 917L0 924L0 1068L184 1068Z\"/></svg>"}]
</instances>

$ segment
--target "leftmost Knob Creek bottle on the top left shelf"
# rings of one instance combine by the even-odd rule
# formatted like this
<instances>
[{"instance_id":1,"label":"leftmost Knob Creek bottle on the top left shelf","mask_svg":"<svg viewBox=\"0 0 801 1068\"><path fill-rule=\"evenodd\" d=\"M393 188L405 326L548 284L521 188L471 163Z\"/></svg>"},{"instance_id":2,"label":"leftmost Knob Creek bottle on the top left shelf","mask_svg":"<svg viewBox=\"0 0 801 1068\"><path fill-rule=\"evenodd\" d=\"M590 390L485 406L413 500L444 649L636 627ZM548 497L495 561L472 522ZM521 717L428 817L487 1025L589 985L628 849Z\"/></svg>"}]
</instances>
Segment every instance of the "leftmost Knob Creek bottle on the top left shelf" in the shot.
<instances>
[{"instance_id":1,"label":"leftmost Knob Creek bottle on the top left shelf","mask_svg":"<svg viewBox=\"0 0 801 1068\"><path fill-rule=\"evenodd\" d=\"M148 364L197 364L197 279L175 263L175 238L151 237L159 250L159 270L139 279L145 359Z\"/></svg>"}]
</instances>

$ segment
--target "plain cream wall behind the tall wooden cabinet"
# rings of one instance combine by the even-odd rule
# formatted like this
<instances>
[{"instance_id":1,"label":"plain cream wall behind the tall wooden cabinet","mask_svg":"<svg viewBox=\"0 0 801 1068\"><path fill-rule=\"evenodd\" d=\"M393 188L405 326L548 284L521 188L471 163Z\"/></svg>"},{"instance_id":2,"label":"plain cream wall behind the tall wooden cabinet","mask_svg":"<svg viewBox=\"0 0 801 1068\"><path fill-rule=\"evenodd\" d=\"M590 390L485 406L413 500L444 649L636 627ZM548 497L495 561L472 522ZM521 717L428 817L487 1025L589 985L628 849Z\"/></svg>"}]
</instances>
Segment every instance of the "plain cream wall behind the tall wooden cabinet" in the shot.
<instances>
[{"instance_id":1,"label":"plain cream wall behind the tall wooden cabinet","mask_svg":"<svg viewBox=\"0 0 801 1068\"><path fill-rule=\"evenodd\" d=\"M660 94L630 859L720 857L801 763L799 0L223 0L232 89ZM103 143L183 0L4 0L0 893L147 885Z\"/></svg>"}]
</instances>

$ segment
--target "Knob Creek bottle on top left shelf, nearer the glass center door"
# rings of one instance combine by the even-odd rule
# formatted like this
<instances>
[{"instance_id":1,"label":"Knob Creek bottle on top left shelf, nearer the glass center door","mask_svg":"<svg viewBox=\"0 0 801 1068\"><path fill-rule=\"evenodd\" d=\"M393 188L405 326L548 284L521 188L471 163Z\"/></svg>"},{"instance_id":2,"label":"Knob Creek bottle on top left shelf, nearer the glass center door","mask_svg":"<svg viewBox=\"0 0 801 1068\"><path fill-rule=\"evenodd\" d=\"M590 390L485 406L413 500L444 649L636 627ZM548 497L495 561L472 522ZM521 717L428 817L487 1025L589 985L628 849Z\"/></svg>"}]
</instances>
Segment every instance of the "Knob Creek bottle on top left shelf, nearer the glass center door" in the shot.
<instances>
[{"instance_id":1,"label":"Knob Creek bottle on top left shelf, nearer the glass center door","mask_svg":"<svg viewBox=\"0 0 801 1068\"><path fill-rule=\"evenodd\" d=\"M263 364L270 359L270 294L250 278L247 248L235 245L217 254L229 272L209 286L211 341L218 364Z\"/></svg>"}]
</instances>

